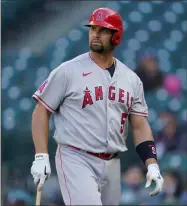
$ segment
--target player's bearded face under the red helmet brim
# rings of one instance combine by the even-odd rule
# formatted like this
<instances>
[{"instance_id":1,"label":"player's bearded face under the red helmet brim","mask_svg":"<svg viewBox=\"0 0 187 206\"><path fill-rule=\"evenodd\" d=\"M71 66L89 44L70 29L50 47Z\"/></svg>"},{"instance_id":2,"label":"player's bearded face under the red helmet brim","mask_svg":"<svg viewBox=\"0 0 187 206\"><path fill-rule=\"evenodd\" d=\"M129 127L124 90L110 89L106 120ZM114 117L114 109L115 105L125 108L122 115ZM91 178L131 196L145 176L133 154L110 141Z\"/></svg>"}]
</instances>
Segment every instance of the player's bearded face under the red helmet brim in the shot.
<instances>
[{"instance_id":1,"label":"player's bearded face under the red helmet brim","mask_svg":"<svg viewBox=\"0 0 187 206\"><path fill-rule=\"evenodd\" d=\"M93 52L106 53L114 49L112 45L112 31L110 29L91 26L89 32L89 45Z\"/></svg>"}]
</instances>

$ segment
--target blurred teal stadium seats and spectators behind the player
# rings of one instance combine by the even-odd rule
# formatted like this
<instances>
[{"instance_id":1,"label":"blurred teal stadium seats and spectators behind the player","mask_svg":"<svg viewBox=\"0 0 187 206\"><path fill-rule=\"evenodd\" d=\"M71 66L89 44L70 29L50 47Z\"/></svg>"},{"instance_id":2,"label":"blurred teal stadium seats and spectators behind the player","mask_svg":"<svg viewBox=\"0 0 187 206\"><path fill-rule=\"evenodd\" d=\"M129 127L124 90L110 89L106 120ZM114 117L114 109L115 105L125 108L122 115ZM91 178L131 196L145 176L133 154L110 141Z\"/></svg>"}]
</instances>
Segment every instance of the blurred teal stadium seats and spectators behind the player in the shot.
<instances>
[{"instance_id":1,"label":"blurred teal stadium seats and spectators behind the player","mask_svg":"<svg viewBox=\"0 0 187 206\"><path fill-rule=\"evenodd\" d=\"M1 1L2 204L34 204L30 167L35 102L31 96L56 66L89 50L88 30L83 25L98 7L119 11L124 20L123 42L115 56L140 77L147 75L142 81L148 85L148 120L165 178L163 193L150 198L149 189L144 188L146 171L130 134L129 151L121 154L121 204L187 205L187 1L60 0ZM154 71L149 63L144 71L147 59L158 63ZM160 78L149 82L153 73ZM52 176L42 202L63 205L53 132L51 120Z\"/></svg>"}]
</instances>

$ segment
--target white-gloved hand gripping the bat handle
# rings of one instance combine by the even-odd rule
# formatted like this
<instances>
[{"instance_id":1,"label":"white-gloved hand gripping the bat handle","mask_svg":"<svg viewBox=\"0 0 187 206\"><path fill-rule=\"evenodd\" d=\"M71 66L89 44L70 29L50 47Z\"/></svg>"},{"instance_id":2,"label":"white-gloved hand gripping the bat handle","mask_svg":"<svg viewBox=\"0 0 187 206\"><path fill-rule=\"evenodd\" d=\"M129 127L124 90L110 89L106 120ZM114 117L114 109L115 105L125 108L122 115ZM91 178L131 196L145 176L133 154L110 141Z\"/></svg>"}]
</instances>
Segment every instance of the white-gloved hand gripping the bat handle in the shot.
<instances>
[{"instance_id":1,"label":"white-gloved hand gripping the bat handle","mask_svg":"<svg viewBox=\"0 0 187 206\"><path fill-rule=\"evenodd\" d=\"M49 162L49 155L46 153L35 154L35 160L32 163L31 174L34 178L34 183L38 190L41 190L45 180L51 174L51 167Z\"/></svg>"}]
</instances>

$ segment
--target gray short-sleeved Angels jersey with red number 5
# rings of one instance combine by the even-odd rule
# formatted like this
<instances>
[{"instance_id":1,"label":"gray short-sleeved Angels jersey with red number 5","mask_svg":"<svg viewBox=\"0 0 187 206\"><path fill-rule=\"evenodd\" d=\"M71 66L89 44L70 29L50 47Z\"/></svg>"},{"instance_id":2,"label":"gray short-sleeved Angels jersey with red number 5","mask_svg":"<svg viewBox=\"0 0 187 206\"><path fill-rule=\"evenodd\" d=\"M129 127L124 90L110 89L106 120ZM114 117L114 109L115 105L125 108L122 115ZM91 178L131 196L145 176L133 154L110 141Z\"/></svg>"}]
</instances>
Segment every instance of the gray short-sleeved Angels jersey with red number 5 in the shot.
<instances>
[{"instance_id":1,"label":"gray short-sleeved Angels jersey with red number 5","mask_svg":"<svg viewBox=\"0 0 187 206\"><path fill-rule=\"evenodd\" d=\"M118 59L113 77L89 53L54 69L33 98L54 113L57 143L95 153L127 150L129 114L147 116L142 82Z\"/></svg>"}]
</instances>

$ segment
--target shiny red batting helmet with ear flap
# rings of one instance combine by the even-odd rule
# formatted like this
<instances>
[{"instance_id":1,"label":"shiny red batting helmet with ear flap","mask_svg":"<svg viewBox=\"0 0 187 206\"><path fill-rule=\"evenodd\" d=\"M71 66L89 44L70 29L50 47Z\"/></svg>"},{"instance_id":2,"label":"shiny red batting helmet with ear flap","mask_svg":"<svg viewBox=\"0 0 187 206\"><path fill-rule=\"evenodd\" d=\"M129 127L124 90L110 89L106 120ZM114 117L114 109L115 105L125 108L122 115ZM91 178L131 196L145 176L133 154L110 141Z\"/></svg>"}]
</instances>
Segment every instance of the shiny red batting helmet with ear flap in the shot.
<instances>
[{"instance_id":1,"label":"shiny red batting helmet with ear flap","mask_svg":"<svg viewBox=\"0 0 187 206\"><path fill-rule=\"evenodd\" d=\"M121 42L123 33L123 21L120 14L109 8L96 9L90 16L89 24L97 25L116 31L112 37L112 43L116 46Z\"/></svg>"}]
</instances>

